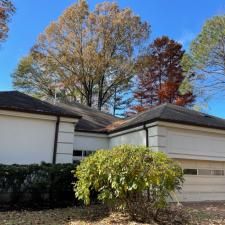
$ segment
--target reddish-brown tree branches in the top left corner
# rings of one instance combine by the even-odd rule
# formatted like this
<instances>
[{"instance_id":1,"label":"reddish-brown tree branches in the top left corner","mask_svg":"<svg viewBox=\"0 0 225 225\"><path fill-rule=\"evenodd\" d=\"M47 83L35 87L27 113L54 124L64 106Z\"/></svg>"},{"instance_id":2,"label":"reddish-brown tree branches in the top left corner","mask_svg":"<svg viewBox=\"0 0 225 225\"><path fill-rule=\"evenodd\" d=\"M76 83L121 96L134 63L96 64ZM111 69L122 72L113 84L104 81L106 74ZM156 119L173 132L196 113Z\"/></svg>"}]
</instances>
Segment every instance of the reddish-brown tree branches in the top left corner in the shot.
<instances>
[{"instance_id":1,"label":"reddish-brown tree branches in the top left corner","mask_svg":"<svg viewBox=\"0 0 225 225\"><path fill-rule=\"evenodd\" d=\"M8 36L8 22L15 12L15 7L9 0L0 1L0 42L5 41Z\"/></svg>"}]
</instances>

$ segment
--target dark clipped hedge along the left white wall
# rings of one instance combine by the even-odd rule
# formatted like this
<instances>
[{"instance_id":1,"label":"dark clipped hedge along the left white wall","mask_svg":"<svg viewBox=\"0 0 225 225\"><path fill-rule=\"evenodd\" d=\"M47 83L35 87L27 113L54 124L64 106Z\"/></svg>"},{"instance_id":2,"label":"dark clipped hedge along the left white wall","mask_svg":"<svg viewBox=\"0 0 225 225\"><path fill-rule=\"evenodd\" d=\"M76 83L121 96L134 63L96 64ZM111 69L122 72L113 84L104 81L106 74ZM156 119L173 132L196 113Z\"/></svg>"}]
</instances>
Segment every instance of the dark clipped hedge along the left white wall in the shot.
<instances>
[{"instance_id":1,"label":"dark clipped hedge along the left white wall","mask_svg":"<svg viewBox=\"0 0 225 225\"><path fill-rule=\"evenodd\" d=\"M78 205L72 186L75 168L75 164L0 164L0 208Z\"/></svg>"}]
</instances>

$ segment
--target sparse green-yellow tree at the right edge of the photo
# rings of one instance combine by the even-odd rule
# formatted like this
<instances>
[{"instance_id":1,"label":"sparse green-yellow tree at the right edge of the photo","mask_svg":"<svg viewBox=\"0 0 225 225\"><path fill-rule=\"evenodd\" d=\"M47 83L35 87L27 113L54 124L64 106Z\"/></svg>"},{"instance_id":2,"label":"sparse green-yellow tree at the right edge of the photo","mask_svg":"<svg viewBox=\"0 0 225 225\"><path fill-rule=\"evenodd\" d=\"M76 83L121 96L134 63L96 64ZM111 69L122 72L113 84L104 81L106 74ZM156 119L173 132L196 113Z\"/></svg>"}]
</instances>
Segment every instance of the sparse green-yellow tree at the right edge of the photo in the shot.
<instances>
[{"instance_id":1,"label":"sparse green-yellow tree at the right edge of the photo","mask_svg":"<svg viewBox=\"0 0 225 225\"><path fill-rule=\"evenodd\" d=\"M225 15L206 21L191 43L188 63L200 90L225 93Z\"/></svg>"}]
</instances>

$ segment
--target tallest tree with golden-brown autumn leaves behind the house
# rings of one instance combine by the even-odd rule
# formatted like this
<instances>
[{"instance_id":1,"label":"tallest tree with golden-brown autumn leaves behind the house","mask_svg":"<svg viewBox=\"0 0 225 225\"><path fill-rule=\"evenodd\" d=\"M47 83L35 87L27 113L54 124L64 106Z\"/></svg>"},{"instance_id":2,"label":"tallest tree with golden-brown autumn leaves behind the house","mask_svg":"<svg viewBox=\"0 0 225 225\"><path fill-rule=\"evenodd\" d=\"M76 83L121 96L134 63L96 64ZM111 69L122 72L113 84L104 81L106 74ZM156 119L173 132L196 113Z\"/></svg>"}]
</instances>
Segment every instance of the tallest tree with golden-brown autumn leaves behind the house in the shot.
<instances>
[{"instance_id":1,"label":"tallest tree with golden-brown autumn leaves behind the house","mask_svg":"<svg viewBox=\"0 0 225 225\"><path fill-rule=\"evenodd\" d=\"M149 25L130 9L104 2L90 12L81 0L46 28L31 54L42 68L51 66L68 95L78 92L89 106L97 99L101 110L133 76L134 50L148 35Z\"/></svg>"}]
</instances>

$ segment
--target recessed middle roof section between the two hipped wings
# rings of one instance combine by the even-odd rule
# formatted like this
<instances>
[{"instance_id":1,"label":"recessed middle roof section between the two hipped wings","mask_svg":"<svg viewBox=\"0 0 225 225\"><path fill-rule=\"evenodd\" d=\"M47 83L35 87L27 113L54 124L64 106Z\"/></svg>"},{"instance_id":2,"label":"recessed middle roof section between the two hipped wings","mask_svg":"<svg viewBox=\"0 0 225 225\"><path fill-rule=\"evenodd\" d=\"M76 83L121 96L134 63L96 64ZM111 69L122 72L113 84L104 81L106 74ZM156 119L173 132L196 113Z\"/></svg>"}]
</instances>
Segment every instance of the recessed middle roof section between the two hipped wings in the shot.
<instances>
[{"instance_id":1,"label":"recessed middle roof section between the two hipped wings","mask_svg":"<svg viewBox=\"0 0 225 225\"><path fill-rule=\"evenodd\" d=\"M104 113L77 102L57 103L58 106L82 116L75 127L76 131L106 133L106 127L120 120L119 118Z\"/></svg>"}]
</instances>

